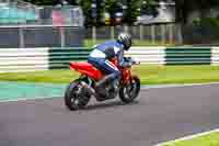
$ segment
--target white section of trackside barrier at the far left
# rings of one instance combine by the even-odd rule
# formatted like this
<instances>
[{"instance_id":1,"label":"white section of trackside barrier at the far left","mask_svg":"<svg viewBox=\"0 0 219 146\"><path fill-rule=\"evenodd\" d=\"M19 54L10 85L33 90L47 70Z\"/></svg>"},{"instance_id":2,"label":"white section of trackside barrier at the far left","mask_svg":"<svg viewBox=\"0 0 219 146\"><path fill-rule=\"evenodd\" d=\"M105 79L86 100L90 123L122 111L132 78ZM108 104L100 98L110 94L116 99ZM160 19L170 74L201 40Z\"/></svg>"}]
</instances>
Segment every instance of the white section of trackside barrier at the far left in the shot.
<instances>
[{"instance_id":1,"label":"white section of trackside barrier at the far left","mask_svg":"<svg viewBox=\"0 0 219 146\"><path fill-rule=\"evenodd\" d=\"M0 48L0 72L47 70L49 48Z\"/></svg>"}]
</instances>

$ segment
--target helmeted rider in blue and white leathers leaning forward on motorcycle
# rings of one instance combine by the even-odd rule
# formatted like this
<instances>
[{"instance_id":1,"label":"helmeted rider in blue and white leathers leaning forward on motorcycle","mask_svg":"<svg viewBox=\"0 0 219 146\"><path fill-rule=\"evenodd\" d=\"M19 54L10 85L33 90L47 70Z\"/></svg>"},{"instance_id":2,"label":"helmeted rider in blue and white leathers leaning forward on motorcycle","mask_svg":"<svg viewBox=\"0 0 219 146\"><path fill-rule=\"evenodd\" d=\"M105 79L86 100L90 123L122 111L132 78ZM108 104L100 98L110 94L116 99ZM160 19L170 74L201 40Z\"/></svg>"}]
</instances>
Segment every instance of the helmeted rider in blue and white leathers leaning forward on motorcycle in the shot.
<instances>
[{"instance_id":1,"label":"helmeted rider in blue and white leathers leaning forward on motorcycle","mask_svg":"<svg viewBox=\"0 0 219 146\"><path fill-rule=\"evenodd\" d=\"M114 88L118 85L120 70L111 63L111 59L116 58L120 67L130 66L124 60L124 50L128 50L131 46L131 36L128 33L120 33L115 41L106 41L103 44L94 46L94 49L88 57L88 61L94 67L106 74L106 76L96 83L95 90L105 97L106 82L113 82ZM117 83L117 85L116 85Z\"/></svg>"}]
</instances>

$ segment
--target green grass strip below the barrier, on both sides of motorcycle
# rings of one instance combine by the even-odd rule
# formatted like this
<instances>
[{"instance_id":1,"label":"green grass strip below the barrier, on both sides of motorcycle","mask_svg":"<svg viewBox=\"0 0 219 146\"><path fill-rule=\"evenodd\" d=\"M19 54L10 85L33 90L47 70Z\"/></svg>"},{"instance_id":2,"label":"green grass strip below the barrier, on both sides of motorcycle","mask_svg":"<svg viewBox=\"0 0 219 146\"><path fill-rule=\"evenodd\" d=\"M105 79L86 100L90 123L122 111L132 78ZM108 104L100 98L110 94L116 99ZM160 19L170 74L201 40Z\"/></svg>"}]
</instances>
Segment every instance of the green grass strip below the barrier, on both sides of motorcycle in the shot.
<instances>
[{"instance_id":1,"label":"green grass strip below the barrier, on both sides of motorcycle","mask_svg":"<svg viewBox=\"0 0 219 146\"><path fill-rule=\"evenodd\" d=\"M219 66L149 66L134 68L143 85L219 82ZM0 80L69 83L79 74L70 69L0 74Z\"/></svg>"}]
</instances>

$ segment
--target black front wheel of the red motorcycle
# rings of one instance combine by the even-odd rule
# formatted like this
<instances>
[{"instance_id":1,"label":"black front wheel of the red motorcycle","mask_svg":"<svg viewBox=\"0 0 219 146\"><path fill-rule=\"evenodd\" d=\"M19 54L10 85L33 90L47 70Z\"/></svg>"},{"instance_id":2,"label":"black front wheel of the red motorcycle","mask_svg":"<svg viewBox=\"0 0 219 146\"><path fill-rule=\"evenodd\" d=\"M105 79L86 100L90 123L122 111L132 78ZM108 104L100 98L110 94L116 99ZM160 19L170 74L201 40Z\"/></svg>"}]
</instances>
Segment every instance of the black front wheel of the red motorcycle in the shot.
<instances>
[{"instance_id":1,"label":"black front wheel of the red motorcycle","mask_svg":"<svg viewBox=\"0 0 219 146\"><path fill-rule=\"evenodd\" d=\"M132 81L119 89L119 98L124 103L132 102L139 94L140 79L132 77Z\"/></svg>"}]
</instances>

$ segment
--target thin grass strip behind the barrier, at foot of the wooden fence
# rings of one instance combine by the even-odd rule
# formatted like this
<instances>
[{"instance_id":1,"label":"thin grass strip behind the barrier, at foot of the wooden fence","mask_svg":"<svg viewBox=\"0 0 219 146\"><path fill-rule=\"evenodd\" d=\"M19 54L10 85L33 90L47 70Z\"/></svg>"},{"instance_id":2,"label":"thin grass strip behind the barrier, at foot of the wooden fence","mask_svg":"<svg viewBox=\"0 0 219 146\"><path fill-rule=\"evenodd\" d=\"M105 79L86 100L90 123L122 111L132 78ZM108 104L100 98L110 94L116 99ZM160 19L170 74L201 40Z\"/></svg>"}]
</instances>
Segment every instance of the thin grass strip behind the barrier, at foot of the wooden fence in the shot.
<instances>
[{"instance_id":1,"label":"thin grass strip behind the barrier, at foot of the wooden fence","mask_svg":"<svg viewBox=\"0 0 219 146\"><path fill-rule=\"evenodd\" d=\"M84 47L92 47L95 44L100 44L105 42L106 40L96 40L95 43L93 43L92 40L84 40L83 46ZM163 44L162 42L150 42L150 41L140 41L140 40L134 40L132 46L175 46L175 44Z\"/></svg>"}]
</instances>

